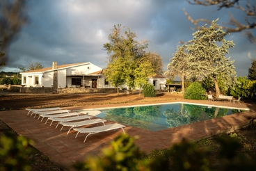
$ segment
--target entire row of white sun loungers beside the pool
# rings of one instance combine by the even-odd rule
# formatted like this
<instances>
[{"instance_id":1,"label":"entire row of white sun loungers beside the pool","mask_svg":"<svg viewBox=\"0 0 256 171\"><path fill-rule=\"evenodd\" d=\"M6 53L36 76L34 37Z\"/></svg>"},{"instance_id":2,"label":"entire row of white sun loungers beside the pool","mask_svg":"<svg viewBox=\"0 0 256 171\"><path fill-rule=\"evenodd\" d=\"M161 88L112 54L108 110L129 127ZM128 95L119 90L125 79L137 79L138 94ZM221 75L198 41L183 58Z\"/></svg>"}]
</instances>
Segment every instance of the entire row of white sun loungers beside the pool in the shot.
<instances>
[{"instance_id":1,"label":"entire row of white sun loungers beside the pool","mask_svg":"<svg viewBox=\"0 0 256 171\"><path fill-rule=\"evenodd\" d=\"M38 108L38 109L26 108L26 110L29 111L29 113L31 113L31 116L33 114L34 114L34 117L36 115L39 115L38 120L40 119L40 117L42 117L42 120L45 117L47 117L47 121L45 122L45 124L47 124L48 120L51 120L51 124L54 121L58 122L56 128L58 127L59 124L61 124L62 125L61 130L65 126L70 127L70 129L67 131L67 134L70 133L71 129L77 131L77 135L78 133L88 133L86 138L91 134L110 131L113 129L122 129L122 131L125 133L125 130L123 129L125 125L122 125L122 124L106 124L105 125L104 122L106 122L106 120L90 119L91 117L101 113L100 111L81 111L77 113L77 112L71 112L70 110L63 110L62 108ZM29 115L29 113L27 115ZM102 123L103 125L98 127L92 127L92 128L74 129L76 127L82 127L89 124L99 124L99 123ZM77 135L75 138L77 138ZM86 138L84 139L83 142L86 142Z\"/></svg>"}]
</instances>

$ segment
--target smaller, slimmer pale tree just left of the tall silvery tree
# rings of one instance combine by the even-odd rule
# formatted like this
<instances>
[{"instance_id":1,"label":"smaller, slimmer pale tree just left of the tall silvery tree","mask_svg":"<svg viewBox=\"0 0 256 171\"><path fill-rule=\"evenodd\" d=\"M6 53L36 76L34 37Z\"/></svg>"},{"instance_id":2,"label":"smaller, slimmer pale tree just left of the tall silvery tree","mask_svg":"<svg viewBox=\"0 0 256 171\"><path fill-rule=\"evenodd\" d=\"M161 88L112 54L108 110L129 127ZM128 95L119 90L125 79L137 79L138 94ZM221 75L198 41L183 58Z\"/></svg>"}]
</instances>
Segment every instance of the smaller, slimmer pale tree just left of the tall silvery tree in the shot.
<instances>
[{"instance_id":1,"label":"smaller, slimmer pale tree just left of the tall silvery tree","mask_svg":"<svg viewBox=\"0 0 256 171\"><path fill-rule=\"evenodd\" d=\"M179 76L182 79L182 93L185 92L184 79L189 74L189 54L186 54L186 45L178 46L177 51L173 54L171 62L167 65L168 71L165 75L171 74Z\"/></svg>"}]
</instances>

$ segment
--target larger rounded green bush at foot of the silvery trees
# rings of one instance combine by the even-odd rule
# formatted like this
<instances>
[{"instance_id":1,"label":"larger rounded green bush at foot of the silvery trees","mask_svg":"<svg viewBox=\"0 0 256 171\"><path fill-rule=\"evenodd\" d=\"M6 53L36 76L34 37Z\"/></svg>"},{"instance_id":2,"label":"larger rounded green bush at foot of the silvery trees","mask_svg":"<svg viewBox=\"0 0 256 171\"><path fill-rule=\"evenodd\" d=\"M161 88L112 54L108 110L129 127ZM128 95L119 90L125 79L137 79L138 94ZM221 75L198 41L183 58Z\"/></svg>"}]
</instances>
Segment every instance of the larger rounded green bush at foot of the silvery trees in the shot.
<instances>
[{"instance_id":1,"label":"larger rounded green bush at foot of the silvery trees","mask_svg":"<svg viewBox=\"0 0 256 171\"><path fill-rule=\"evenodd\" d=\"M205 88L202 88L202 85L198 82L191 83L191 85L186 88L184 93L184 99L207 99L205 95Z\"/></svg>"}]
</instances>

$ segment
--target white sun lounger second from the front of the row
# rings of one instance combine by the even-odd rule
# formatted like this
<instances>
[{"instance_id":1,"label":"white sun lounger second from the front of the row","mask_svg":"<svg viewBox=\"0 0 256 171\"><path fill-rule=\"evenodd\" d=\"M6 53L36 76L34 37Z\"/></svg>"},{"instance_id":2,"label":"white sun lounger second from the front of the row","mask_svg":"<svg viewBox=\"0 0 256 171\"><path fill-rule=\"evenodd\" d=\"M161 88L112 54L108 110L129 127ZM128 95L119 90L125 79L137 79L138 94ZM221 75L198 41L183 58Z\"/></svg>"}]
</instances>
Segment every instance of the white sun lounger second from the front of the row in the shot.
<instances>
[{"instance_id":1,"label":"white sun lounger second from the front of the row","mask_svg":"<svg viewBox=\"0 0 256 171\"><path fill-rule=\"evenodd\" d=\"M67 127L71 127L68 131L67 134L70 133L70 130L74 127L81 127L81 126L85 126L88 124L98 124L102 122L102 124L104 124L104 122L106 122L106 120L102 120L102 119L95 119L95 120L83 120L83 121L79 121L79 122L60 122L58 124L62 124L63 126L61 127L61 130L63 129L64 126ZM105 125L105 124L104 124ZM58 125L57 125L58 127ZM57 128L56 127L56 128Z\"/></svg>"}]
</instances>

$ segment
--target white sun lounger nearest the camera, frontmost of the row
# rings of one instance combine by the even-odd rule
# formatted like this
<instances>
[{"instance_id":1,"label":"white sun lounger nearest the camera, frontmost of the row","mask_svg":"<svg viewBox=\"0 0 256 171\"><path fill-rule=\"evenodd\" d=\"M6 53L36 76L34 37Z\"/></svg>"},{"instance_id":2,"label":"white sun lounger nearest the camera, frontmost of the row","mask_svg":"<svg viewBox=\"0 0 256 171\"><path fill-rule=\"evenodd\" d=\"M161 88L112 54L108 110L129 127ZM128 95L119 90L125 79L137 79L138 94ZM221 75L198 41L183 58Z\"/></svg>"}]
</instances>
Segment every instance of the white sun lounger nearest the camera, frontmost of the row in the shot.
<instances>
[{"instance_id":1,"label":"white sun lounger nearest the camera, frontmost of the row","mask_svg":"<svg viewBox=\"0 0 256 171\"><path fill-rule=\"evenodd\" d=\"M123 129L123 127L125 127L125 125L122 125L122 124L106 124L106 125L99 126L99 127L81 128L81 129L74 129L74 130L77 131L77 135L78 135L79 132L80 133L88 133L88 135L86 136L86 138L87 138L88 136L90 136L90 134L100 133L100 132L104 132L104 131L110 131L110 130L113 130L113 129L122 129L122 131L124 131L124 133L125 133L125 130ZM77 136L75 138L77 138ZM86 138L84 139L83 142L86 142Z\"/></svg>"}]
</instances>

